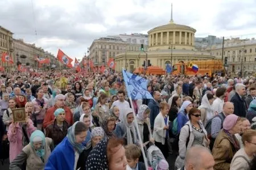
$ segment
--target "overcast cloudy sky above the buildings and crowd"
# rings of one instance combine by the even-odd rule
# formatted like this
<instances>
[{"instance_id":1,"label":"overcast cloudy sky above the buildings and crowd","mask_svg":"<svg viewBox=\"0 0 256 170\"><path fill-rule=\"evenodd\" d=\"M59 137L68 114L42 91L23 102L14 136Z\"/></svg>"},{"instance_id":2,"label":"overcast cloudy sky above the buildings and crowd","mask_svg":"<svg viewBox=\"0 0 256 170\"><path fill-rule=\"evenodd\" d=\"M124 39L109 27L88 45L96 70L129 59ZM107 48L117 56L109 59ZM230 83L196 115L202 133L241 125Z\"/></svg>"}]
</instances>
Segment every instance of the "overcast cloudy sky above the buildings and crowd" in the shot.
<instances>
[{"instance_id":1,"label":"overcast cloudy sky above the buildings and crowd","mask_svg":"<svg viewBox=\"0 0 256 170\"><path fill-rule=\"evenodd\" d=\"M0 0L0 25L15 39L81 59L94 39L167 24L171 3L174 22L196 37L256 35L255 0Z\"/></svg>"}]
</instances>

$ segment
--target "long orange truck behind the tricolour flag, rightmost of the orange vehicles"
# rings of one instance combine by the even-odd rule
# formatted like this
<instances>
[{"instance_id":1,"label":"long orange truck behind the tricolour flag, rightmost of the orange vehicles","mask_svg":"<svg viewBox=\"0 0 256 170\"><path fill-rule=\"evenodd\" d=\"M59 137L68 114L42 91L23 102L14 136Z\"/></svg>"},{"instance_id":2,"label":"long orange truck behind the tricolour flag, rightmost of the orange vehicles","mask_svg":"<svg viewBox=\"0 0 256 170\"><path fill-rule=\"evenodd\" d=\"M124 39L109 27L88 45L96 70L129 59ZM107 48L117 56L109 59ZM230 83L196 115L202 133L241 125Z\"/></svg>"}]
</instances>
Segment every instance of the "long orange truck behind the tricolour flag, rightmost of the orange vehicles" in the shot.
<instances>
[{"instance_id":1,"label":"long orange truck behind the tricolour flag, rightmost of the orange vehicles","mask_svg":"<svg viewBox=\"0 0 256 170\"><path fill-rule=\"evenodd\" d=\"M212 59L212 60L199 60L199 61L191 61L193 64L198 66L197 73L188 70L188 63L176 63L173 66L172 75L185 74L185 75L204 75L208 73L209 75L215 73L223 73L224 67L221 59Z\"/></svg>"}]
</instances>

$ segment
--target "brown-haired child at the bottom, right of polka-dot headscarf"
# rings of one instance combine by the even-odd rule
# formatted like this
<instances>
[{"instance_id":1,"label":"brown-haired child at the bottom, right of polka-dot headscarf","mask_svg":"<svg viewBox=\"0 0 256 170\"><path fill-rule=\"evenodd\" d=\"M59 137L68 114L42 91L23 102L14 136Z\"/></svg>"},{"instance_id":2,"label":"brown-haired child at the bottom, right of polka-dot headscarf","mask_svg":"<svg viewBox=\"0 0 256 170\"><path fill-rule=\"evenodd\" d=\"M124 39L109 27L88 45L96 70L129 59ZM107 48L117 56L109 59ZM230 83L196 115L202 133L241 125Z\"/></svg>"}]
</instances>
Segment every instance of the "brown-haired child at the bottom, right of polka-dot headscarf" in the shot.
<instances>
[{"instance_id":1,"label":"brown-haired child at the bottom, right of polka-dot headscarf","mask_svg":"<svg viewBox=\"0 0 256 170\"><path fill-rule=\"evenodd\" d=\"M137 145L132 144L125 146L125 156L127 163L132 170L146 170L145 164L139 162L141 149Z\"/></svg>"}]
</instances>

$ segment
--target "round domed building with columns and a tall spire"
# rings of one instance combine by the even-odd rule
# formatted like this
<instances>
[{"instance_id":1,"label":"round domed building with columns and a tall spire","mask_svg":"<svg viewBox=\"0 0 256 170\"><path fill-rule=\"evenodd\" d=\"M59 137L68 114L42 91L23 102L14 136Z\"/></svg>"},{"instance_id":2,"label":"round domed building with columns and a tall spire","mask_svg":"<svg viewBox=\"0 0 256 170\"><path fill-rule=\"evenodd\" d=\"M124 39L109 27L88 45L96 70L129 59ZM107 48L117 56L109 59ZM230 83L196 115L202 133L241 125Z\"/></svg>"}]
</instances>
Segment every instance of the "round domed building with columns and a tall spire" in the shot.
<instances>
[{"instance_id":1,"label":"round domed building with columns and a tall spire","mask_svg":"<svg viewBox=\"0 0 256 170\"><path fill-rule=\"evenodd\" d=\"M152 66L166 69L166 64L174 65L177 62L192 60L214 59L207 52L197 52L195 49L196 29L187 25L180 25L171 20L166 25L155 27L148 31L147 52L125 52L115 56L115 70L122 67L128 71L143 67L147 63ZM147 59L146 59L147 58Z\"/></svg>"}]
</instances>

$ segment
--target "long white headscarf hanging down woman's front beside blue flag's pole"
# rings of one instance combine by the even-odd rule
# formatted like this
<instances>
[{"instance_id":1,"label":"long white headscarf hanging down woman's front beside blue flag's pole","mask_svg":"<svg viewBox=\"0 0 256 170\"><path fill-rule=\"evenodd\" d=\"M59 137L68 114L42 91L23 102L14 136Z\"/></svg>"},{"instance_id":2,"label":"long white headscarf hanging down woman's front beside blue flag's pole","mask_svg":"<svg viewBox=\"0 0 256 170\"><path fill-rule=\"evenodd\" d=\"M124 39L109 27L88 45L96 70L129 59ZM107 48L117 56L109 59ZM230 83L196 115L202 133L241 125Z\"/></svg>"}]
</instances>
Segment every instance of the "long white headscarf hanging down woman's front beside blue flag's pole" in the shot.
<instances>
[{"instance_id":1,"label":"long white headscarf hanging down woman's front beside blue flag's pole","mask_svg":"<svg viewBox=\"0 0 256 170\"><path fill-rule=\"evenodd\" d=\"M136 135L134 122L131 122L130 124L128 124L128 122L127 122L127 115L130 113L133 114L133 109L126 108L125 114L123 114L123 124L126 127L127 145L137 142L137 135ZM131 131L133 132L133 138L131 137ZM133 141L133 139L134 139L134 141Z\"/></svg>"}]
</instances>

